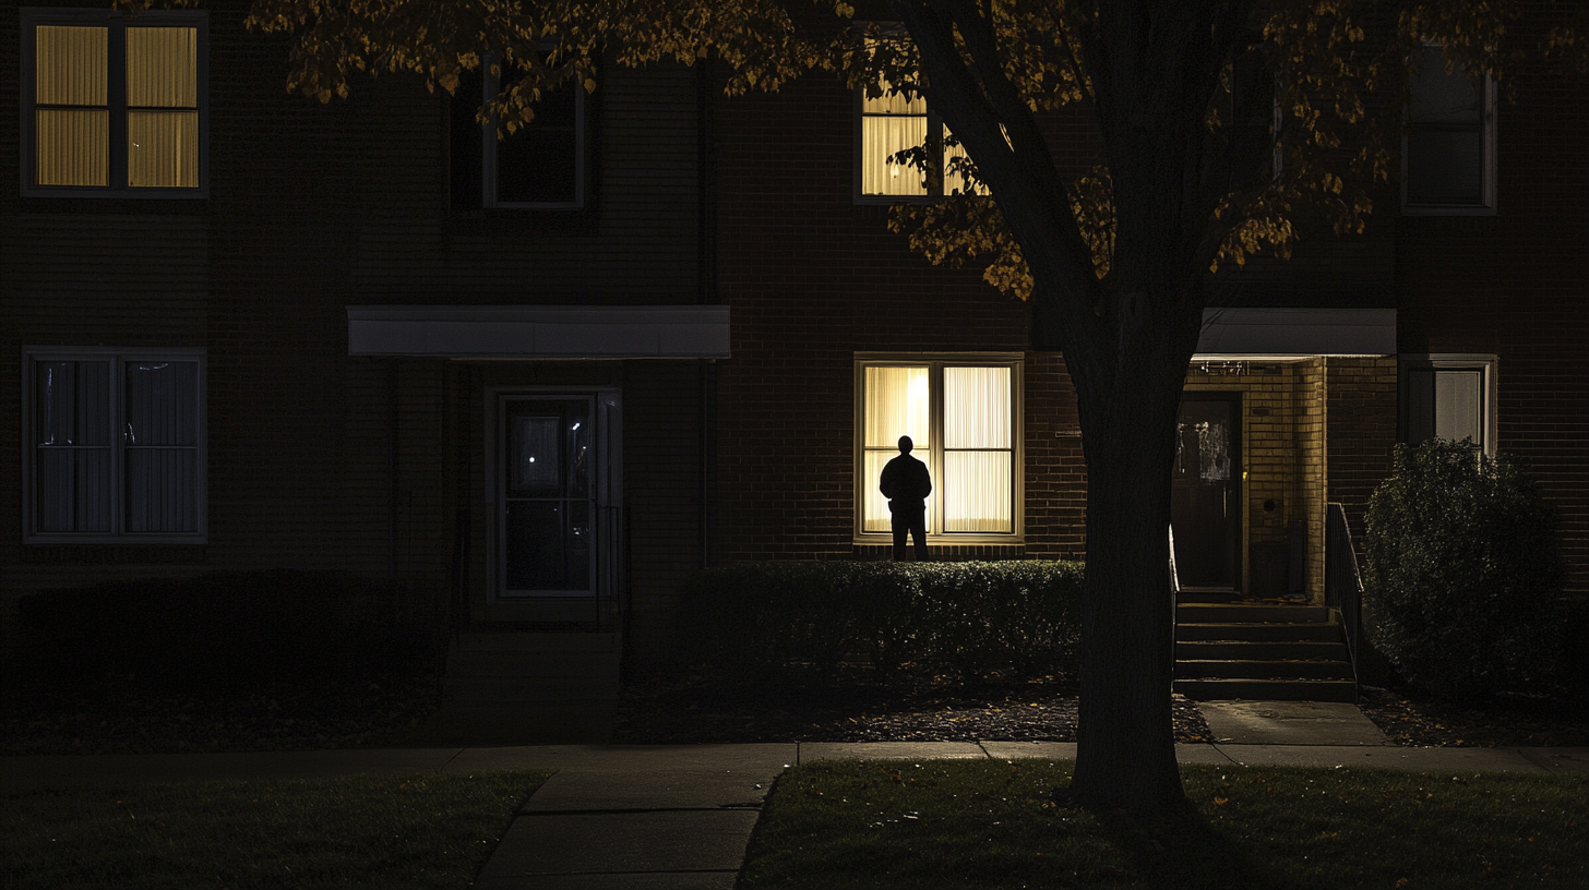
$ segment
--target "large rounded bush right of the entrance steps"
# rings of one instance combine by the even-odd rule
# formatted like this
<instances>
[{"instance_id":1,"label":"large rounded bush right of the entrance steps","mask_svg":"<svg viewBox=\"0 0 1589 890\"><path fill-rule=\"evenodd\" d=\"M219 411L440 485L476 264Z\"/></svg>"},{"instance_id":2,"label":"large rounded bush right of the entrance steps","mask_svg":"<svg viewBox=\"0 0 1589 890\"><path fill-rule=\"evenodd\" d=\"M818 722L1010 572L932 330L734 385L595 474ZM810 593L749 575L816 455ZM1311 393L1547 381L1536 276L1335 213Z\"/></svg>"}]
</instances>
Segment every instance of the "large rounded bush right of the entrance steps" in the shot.
<instances>
[{"instance_id":1,"label":"large rounded bush right of the entrance steps","mask_svg":"<svg viewBox=\"0 0 1589 890\"><path fill-rule=\"evenodd\" d=\"M1395 450L1368 501L1363 596L1374 645L1435 693L1522 691L1556 664L1556 515L1471 440Z\"/></svg>"}]
</instances>

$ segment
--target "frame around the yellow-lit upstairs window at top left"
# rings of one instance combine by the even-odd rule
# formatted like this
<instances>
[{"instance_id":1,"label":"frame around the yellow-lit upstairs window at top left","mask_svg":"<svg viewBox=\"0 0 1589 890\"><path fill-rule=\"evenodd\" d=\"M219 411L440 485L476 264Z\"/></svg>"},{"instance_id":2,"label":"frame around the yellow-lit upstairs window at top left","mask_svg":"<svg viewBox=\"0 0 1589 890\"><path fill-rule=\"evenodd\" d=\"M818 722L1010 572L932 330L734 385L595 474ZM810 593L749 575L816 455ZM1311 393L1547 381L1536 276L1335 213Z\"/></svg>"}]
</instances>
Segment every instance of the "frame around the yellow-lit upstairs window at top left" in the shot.
<instances>
[{"instance_id":1,"label":"frame around the yellow-lit upstairs window at top left","mask_svg":"<svg viewBox=\"0 0 1589 890\"><path fill-rule=\"evenodd\" d=\"M110 170L108 186L40 186L37 184L37 135L35 135L35 64L38 48L33 37L38 25L106 25L111 30L106 48L106 102L110 103ZM127 181L127 75L126 43L127 27L168 25L199 30L199 184L194 188L135 188ZM21 188L24 197L94 197L94 199L205 199L210 197L210 13L203 10L148 10L137 16L122 16L106 10L73 10L24 6L21 10L21 94L17 121L17 148L21 156ZM121 72L118 73L118 62ZM118 118L119 116L119 118ZM119 119L119 124L118 124ZM121 137L118 140L118 137ZM118 184L119 183L119 184Z\"/></svg>"}]
</instances>

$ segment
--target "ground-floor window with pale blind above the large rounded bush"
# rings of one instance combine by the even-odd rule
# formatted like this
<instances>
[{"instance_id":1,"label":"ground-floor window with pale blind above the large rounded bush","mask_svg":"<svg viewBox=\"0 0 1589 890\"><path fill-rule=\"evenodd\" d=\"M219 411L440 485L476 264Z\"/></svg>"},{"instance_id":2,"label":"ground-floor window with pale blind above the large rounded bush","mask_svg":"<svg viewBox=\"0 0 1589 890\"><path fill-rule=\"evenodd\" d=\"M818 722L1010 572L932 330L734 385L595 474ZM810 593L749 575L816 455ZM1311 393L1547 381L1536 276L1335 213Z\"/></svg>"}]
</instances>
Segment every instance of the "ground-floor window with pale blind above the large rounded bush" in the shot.
<instances>
[{"instance_id":1,"label":"ground-floor window with pale blind above the large rounded bush","mask_svg":"<svg viewBox=\"0 0 1589 890\"><path fill-rule=\"evenodd\" d=\"M1495 356L1432 354L1401 361L1403 432L1409 445L1471 439L1495 453Z\"/></svg>"}]
</instances>

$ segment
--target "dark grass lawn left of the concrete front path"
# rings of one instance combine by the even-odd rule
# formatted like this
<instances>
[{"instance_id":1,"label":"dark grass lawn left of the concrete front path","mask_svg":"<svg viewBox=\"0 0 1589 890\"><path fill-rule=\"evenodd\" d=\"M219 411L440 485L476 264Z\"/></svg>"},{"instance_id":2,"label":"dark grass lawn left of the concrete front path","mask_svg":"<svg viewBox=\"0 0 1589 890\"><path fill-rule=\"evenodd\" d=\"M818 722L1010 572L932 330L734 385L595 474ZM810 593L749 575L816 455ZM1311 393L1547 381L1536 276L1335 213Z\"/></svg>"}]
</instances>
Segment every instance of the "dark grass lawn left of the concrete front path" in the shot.
<instances>
[{"instance_id":1,"label":"dark grass lawn left of the concrete front path","mask_svg":"<svg viewBox=\"0 0 1589 890\"><path fill-rule=\"evenodd\" d=\"M0 887L464 888L550 771L0 791Z\"/></svg>"}]
</instances>

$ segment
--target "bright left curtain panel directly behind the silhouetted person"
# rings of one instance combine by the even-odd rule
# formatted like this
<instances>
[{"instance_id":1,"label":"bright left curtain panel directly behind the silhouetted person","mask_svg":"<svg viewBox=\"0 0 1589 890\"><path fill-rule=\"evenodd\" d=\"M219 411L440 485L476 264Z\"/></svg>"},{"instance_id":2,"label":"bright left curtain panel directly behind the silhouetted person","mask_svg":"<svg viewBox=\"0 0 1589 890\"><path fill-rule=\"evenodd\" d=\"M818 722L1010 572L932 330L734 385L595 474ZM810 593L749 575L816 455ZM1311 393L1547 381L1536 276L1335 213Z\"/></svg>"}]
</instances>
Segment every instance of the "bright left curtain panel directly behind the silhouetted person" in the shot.
<instances>
[{"instance_id":1,"label":"bright left curtain panel directly behind the silhouetted person","mask_svg":"<svg viewBox=\"0 0 1589 890\"><path fill-rule=\"evenodd\" d=\"M926 367L868 367L866 369L866 461L863 472L864 520L863 531L890 531L888 499L877 489L883 464L899 453L899 437L909 435L915 458L931 466L933 394ZM933 531L933 501L938 486L928 499L928 531Z\"/></svg>"}]
</instances>

